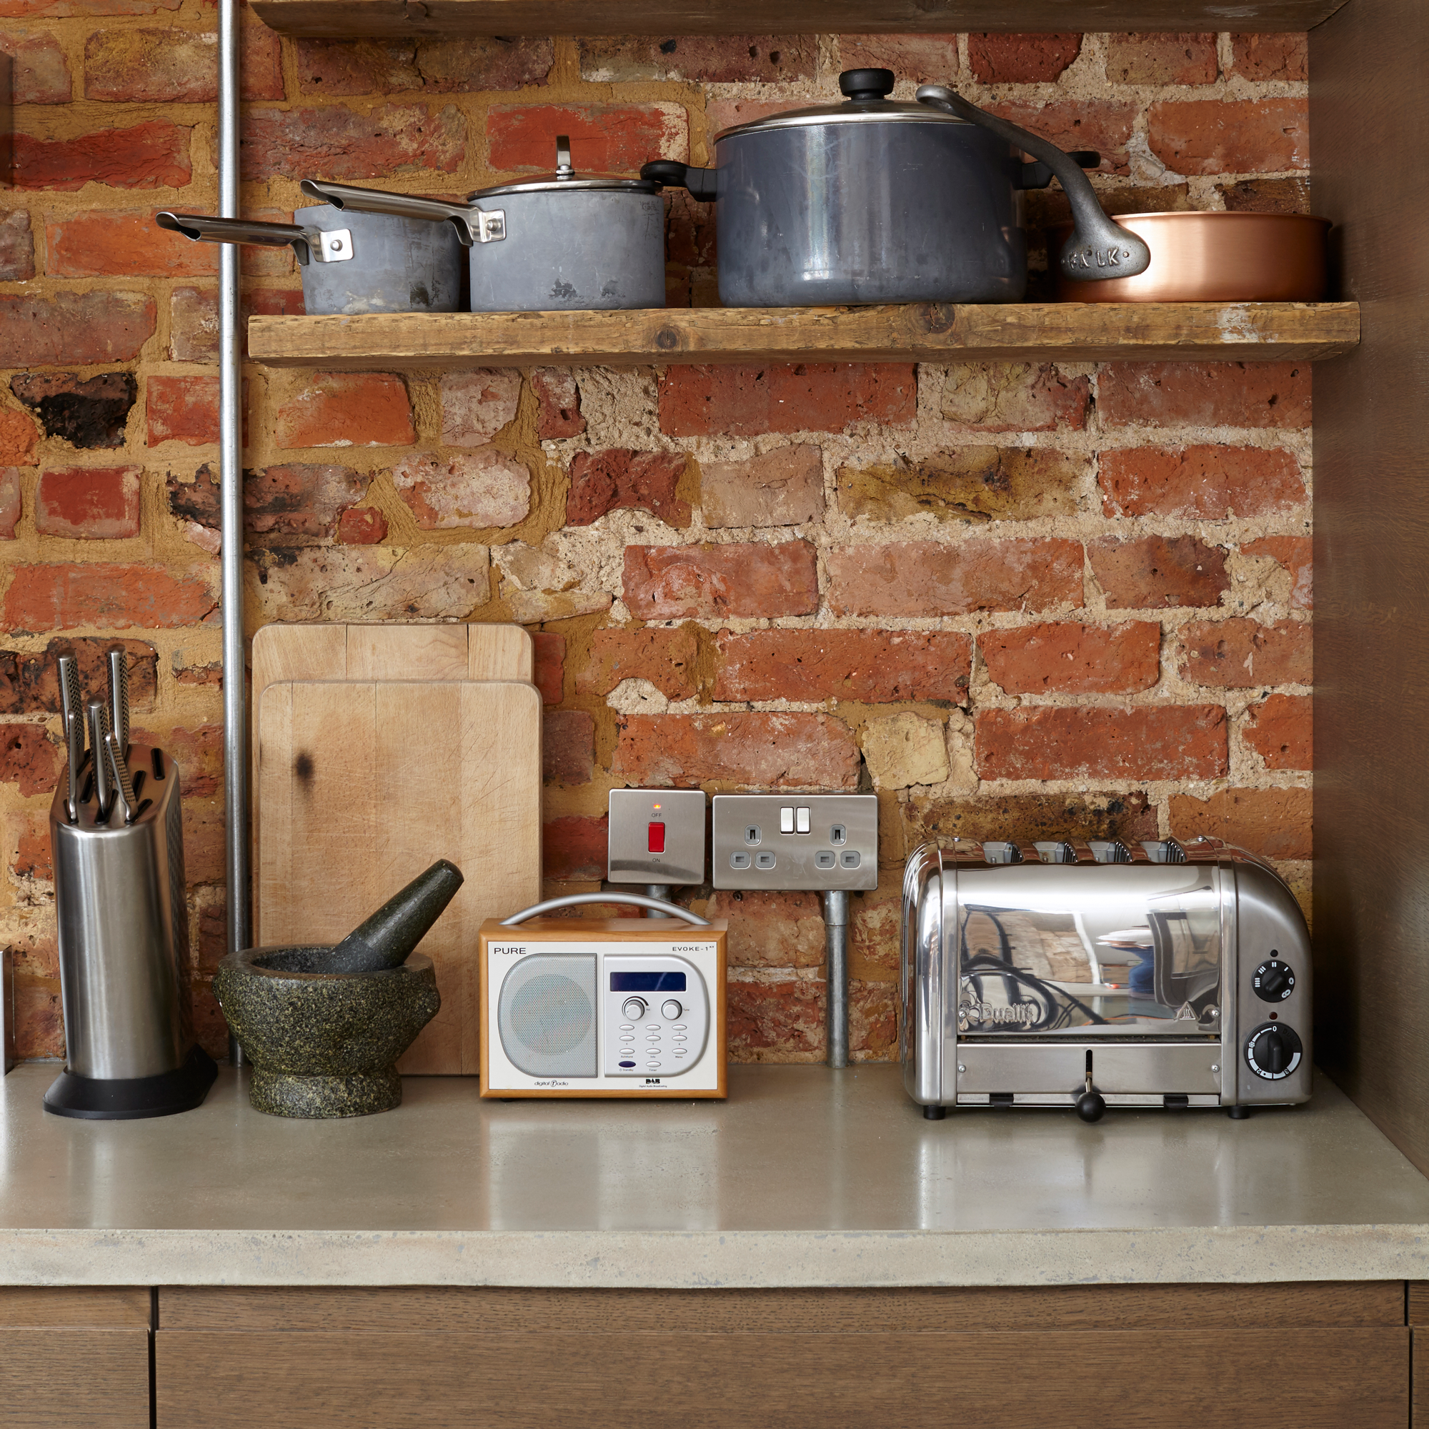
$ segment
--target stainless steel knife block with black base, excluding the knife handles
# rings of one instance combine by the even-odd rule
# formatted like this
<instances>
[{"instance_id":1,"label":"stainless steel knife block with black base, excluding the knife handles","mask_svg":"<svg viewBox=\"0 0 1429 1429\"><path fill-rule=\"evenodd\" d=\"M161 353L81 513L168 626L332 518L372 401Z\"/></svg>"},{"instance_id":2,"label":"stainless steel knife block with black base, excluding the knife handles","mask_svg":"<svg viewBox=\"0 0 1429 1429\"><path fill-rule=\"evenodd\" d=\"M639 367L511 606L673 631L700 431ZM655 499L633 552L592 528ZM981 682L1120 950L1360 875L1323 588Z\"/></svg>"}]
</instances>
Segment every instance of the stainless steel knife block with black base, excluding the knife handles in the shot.
<instances>
[{"instance_id":1,"label":"stainless steel knife block with black base, excluding the knife handles","mask_svg":"<svg viewBox=\"0 0 1429 1429\"><path fill-rule=\"evenodd\" d=\"M131 820L94 785L94 760L70 817L50 805L66 1069L44 1096L60 1116L124 1120L199 1106L217 1073L193 1043L189 910L179 766L130 746Z\"/></svg>"}]
</instances>

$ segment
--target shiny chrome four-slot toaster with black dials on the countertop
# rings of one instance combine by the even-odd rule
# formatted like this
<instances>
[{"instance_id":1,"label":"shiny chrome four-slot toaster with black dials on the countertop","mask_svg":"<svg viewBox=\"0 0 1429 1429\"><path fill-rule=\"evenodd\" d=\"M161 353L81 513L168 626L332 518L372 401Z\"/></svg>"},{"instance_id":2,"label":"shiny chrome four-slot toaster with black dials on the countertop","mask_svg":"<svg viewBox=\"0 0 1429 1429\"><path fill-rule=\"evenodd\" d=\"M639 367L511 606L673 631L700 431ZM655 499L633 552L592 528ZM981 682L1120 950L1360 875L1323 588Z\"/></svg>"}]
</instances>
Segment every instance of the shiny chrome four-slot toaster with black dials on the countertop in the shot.
<instances>
[{"instance_id":1,"label":"shiny chrome four-slot toaster with black dials on the countertop","mask_svg":"<svg viewBox=\"0 0 1429 1429\"><path fill-rule=\"evenodd\" d=\"M925 845L903 876L903 1085L947 1107L1250 1107L1310 1095L1310 942L1220 843Z\"/></svg>"}]
</instances>

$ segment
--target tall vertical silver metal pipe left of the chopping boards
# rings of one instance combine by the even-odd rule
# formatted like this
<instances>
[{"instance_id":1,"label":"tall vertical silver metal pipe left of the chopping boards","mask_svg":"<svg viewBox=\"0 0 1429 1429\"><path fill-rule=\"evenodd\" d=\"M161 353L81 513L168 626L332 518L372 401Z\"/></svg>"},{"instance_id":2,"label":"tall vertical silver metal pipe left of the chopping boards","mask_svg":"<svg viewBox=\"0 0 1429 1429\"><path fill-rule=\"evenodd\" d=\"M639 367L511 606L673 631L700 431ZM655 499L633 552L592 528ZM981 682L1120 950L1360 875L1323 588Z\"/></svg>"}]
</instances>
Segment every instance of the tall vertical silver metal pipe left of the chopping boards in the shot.
<instances>
[{"instance_id":1,"label":"tall vertical silver metal pipe left of the chopping boards","mask_svg":"<svg viewBox=\"0 0 1429 1429\"><path fill-rule=\"evenodd\" d=\"M219 0L219 214L239 216L239 0ZM229 952L252 945L249 920L249 730L243 649L243 376L239 250L219 253L219 479L223 526L223 800ZM229 1036L229 1060L243 1053Z\"/></svg>"}]
</instances>

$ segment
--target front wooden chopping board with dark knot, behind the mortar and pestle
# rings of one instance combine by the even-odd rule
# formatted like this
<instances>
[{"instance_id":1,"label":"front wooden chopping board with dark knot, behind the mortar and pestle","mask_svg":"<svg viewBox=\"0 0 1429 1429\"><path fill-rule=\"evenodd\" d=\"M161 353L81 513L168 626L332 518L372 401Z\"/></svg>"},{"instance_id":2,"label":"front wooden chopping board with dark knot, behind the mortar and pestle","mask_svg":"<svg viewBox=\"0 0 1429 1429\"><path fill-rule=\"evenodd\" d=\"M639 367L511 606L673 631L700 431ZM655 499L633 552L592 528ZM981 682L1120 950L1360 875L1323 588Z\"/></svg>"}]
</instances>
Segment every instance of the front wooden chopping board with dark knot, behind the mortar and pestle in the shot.
<instances>
[{"instance_id":1,"label":"front wooden chopping board with dark knot, behind the mortar and pestle","mask_svg":"<svg viewBox=\"0 0 1429 1429\"><path fill-rule=\"evenodd\" d=\"M337 942L436 859L466 876L422 943L442 1010L403 1072L477 1072L477 930L542 895L540 730L517 680L276 680L257 697L257 942Z\"/></svg>"}]
</instances>

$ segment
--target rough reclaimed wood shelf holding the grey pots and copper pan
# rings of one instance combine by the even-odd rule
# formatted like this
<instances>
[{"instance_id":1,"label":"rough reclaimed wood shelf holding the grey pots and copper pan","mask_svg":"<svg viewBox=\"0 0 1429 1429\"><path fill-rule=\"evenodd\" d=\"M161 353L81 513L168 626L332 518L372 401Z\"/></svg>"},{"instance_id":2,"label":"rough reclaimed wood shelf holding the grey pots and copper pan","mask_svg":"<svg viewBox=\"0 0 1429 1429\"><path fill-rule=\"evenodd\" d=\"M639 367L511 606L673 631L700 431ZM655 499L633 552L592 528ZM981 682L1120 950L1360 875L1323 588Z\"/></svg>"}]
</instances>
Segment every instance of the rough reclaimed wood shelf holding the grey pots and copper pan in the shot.
<instances>
[{"instance_id":1,"label":"rough reclaimed wood shelf holding the grey pots and copper pan","mask_svg":"<svg viewBox=\"0 0 1429 1429\"><path fill-rule=\"evenodd\" d=\"M249 320L250 360L330 372L1029 357L1303 362L1336 357L1358 342L1358 303L907 303Z\"/></svg>"}]
</instances>

